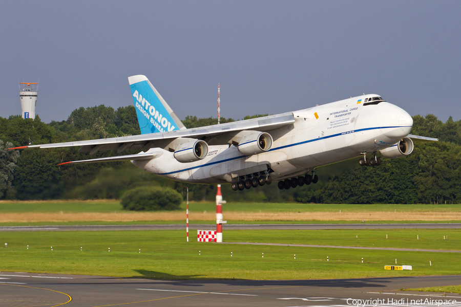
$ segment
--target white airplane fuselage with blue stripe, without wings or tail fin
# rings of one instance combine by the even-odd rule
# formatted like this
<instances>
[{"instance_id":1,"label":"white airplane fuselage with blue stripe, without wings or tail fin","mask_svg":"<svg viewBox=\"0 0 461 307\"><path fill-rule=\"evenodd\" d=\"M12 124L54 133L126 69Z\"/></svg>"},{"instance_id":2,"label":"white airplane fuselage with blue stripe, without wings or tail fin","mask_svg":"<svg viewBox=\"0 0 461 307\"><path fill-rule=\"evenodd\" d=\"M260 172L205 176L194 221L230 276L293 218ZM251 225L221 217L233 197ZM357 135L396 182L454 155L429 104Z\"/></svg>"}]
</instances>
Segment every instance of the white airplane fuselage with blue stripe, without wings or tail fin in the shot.
<instances>
[{"instance_id":1,"label":"white airplane fuselage with blue stripe, without wings or tail fin","mask_svg":"<svg viewBox=\"0 0 461 307\"><path fill-rule=\"evenodd\" d=\"M388 102L363 105L364 95L292 112L295 123L266 131L274 144L267 152L244 156L234 145L209 146L203 160L180 163L173 152L161 151L150 161L133 164L160 176L191 183L231 183L268 165L274 181L301 176L316 167L387 148L411 130L413 120Z\"/></svg>"}]
</instances>

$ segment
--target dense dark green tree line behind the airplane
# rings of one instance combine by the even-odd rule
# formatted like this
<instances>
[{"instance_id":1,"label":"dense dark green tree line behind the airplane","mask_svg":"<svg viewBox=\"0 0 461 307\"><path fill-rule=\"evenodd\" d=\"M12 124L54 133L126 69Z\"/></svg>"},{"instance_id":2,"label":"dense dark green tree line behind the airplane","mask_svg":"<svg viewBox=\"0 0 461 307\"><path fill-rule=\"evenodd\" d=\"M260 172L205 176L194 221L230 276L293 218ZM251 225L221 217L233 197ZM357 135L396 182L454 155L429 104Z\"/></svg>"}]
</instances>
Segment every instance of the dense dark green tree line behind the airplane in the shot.
<instances>
[{"instance_id":1,"label":"dense dark green tree line behind the airplane","mask_svg":"<svg viewBox=\"0 0 461 307\"><path fill-rule=\"evenodd\" d=\"M247 116L244 119L266 116ZM220 118L221 123L232 118ZM360 167L358 159L316 169L316 185L279 190L275 184L234 192L223 185L227 201L301 203L460 203L461 120L444 123L434 115L413 117L411 134L438 138L440 142L415 143L411 155L382 159L380 166ZM217 118L187 116L187 128L217 124ZM191 200L214 200L215 185L174 182L155 176L129 162L75 164L89 159L78 148L7 150L33 144L72 142L140 134L134 106L99 105L75 109L65 121L44 123L20 116L0 118L0 199L119 199L139 186L168 186ZM136 153L136 152L129 152ZM124 155L129 154L123 152ZM98 157L117 155L102 151ZM93 156L91 156L93 157ZM357 161L355 161L357 160Z\"/></svg>"}]
</instances>

